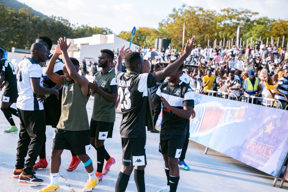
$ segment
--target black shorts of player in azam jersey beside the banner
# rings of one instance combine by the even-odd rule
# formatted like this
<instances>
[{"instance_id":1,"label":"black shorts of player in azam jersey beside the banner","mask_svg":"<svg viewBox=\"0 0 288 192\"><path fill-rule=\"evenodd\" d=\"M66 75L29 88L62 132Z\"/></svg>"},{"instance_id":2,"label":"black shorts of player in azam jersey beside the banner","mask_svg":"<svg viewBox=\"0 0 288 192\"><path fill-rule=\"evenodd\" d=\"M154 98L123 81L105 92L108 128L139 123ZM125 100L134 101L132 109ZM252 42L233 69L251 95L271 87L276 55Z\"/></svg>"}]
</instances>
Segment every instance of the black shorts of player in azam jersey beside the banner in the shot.
<instances>
[{"instance_id":1,"label":"black shorts of player in azam jersey beside the banner","mask_svg":"<svg viewBox=\"0 0 288 192\"><path fill-rule=\"evenodd\" d=\"M168 154L168 157L179 158L186 135L160 134L159 152Z\"/></svg>"}]
</instances>

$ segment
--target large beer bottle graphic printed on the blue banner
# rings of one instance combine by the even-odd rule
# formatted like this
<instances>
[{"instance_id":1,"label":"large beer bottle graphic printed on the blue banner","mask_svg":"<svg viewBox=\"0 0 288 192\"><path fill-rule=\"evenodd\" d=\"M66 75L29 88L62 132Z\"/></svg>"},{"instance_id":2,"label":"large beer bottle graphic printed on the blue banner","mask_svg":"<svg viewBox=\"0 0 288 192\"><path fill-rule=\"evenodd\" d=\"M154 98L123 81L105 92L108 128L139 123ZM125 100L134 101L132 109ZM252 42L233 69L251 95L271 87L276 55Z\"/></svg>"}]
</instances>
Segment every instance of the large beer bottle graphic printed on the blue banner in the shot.
<instances>
[{"instance_id":1,"label":"large beer bottle graphic printed on the blue banner","mask_svg":"<svg viewBox=\"0 0 288 192\"><path fill-rule=\"evenodd\" d=\"M190 137L202 137L218 127L244 121L247 106L224 107L217 101L198 104L194 108L196 117L190 122Z\"/></svg>"}]
</instances>

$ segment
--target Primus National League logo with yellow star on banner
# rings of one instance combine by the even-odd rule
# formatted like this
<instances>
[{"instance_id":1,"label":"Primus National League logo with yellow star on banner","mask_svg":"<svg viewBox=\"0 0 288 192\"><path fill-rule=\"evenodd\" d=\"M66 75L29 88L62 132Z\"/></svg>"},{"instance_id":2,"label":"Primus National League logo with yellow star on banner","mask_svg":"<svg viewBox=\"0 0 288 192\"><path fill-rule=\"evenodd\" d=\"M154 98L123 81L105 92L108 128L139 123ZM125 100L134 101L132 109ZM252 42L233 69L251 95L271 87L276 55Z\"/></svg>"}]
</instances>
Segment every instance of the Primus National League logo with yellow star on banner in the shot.
<instances>
[{"instance_id":1,"label":"Primus National League logo with yellow star on banner","mask_svg":"<svg viewBox=\"0 0 288 192\"><path fill-rule=\"evenodd\" d=\"M280 125L280 118L276 115L265 118L244 143L240 154L241 161L247 162L247 165L253 164L254 167L267 167L269 159L283 147L280 145L286 137L286 130L282 129Z\"/></svg>"}]
</instances>

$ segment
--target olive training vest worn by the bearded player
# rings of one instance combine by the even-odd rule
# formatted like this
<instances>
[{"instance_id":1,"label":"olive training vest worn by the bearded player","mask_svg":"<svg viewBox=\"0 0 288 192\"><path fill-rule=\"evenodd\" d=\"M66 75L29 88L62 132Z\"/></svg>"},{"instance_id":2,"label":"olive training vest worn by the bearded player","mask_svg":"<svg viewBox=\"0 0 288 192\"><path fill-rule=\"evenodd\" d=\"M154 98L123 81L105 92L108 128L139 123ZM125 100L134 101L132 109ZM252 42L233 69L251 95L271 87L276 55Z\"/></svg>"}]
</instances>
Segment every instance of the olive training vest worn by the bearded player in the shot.
<instances>
[{"instance_id":1,"label":"olive training vest worn by the bearded player","mask_svg":"<svg viewBox=\"0 0 288 192\"><path fill-rule=\"evenodd\" d=\"M102 73L102 70L98 71L94 75L94 79L103 91L110 94L117 92L116 74L112 69L107 73ZM95 91L92 119L109 123L115 122L115 104Z\"/></svg>"}]
</instances>

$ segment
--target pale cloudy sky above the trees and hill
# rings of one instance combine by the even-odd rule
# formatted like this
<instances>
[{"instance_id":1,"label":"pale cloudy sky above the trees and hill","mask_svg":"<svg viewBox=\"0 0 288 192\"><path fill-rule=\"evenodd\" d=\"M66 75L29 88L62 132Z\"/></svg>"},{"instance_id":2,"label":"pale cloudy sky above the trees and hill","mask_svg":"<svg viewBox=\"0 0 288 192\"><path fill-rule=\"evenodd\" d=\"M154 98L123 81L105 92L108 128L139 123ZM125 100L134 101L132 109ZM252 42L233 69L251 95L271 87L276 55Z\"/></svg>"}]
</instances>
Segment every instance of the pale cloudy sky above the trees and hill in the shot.
<instances>
[{"instance_id":1,"label":"pale cloudy sky above the trees and hill","mask_svg":"<svg viewBox=\"0 0 288 192\"><path fill-rule=\"evenodd\" d=\"M183 3L219 11L224 8L245 8L259 16L287 18L287 0L18 0L48 16L62 16L71 23L91 27L108 27L115 34L137 27L157 28L158 23Z\"/></svg>"}]
</instances>

